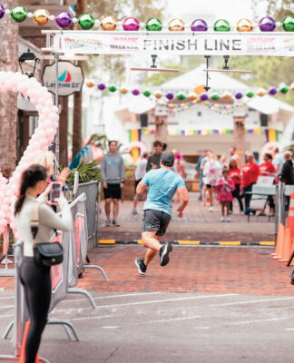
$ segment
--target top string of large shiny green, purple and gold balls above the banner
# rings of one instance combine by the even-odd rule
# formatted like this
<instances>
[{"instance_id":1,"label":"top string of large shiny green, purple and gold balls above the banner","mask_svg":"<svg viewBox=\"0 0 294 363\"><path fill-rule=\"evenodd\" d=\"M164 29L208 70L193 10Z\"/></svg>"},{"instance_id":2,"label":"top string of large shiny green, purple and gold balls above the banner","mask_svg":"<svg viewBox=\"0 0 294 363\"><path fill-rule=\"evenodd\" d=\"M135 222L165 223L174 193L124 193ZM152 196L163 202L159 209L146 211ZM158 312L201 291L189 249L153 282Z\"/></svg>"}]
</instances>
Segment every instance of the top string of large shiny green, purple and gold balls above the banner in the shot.
<instances>
[{"instance_id":1,"label":"top string of large shiny green, purple and gold balls above the banner","mask_svg":"<svg viewBox=\"0 0 294 363\"><path fill-rule=\"evenodd\" d=\"M30 13L27 12L23 5L16 5L12 9L5 9L5 6L0 4L0 19L5 15L11 15L16 23L22 23L26 18L32 18L34 24L40 26L46 25L49 21L54 21L61 29L66 29L75 23L83 30L90 30L93 26L100 26L103 31L114 31L119 28L126 32L139 31L140 28L148 32L160 32L166 29L170 32L184 32L186 29L184 22L177 17L171 19L168 25L162 25L162 21L156 17L148 19L145 23L140 23L138 19L132 16L125 18L122 22L117 22L112 15L104 16L99 20L94 19L93 15L85 13L76 18L65 10L60 11L57 15L50 15L48 10L44 8L38 8L34 13ZM260 32L273 32L276 27L282 27L285 32L294 32L294 16L285 16L282 22L276 22L272 17L265 16L260 19L259 24L254 24L249 19L244 18L238 21L235 30L237 32L252 32L256 28ZM209 29L215 32L230 32L233 27L225 19L219 19L211 26L207 25L203 19L195 19L187 28L191 32L206 32Z\"/></svg>"}]
</instances>

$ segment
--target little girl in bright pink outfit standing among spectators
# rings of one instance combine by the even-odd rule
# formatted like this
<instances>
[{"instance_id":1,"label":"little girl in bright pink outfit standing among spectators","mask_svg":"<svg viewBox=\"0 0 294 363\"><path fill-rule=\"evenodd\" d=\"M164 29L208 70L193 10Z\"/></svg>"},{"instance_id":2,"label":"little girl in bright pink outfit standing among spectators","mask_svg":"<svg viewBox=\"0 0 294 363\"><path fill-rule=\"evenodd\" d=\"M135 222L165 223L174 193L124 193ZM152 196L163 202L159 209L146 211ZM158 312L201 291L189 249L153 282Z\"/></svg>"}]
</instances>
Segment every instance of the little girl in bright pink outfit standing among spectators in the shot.
<instances>
[{"instance_id":1,"label":"little girl in bright pink outfit standing among spectators","mask_svg":"<svg viewBox=\"0 0 294 363\"><path fill-rule=\"evenodd\" d=\"M225 221L225 213L227 213L227 221L230 221L229 211L230 202L232 201L231 191L234 191L235 185L232 179L229 177L228 169L223 169L222 177L219 178L216 184L216 191L218 192L218 199L221 205L221 217L220 221Z\"/></svg>"}]
</instances>

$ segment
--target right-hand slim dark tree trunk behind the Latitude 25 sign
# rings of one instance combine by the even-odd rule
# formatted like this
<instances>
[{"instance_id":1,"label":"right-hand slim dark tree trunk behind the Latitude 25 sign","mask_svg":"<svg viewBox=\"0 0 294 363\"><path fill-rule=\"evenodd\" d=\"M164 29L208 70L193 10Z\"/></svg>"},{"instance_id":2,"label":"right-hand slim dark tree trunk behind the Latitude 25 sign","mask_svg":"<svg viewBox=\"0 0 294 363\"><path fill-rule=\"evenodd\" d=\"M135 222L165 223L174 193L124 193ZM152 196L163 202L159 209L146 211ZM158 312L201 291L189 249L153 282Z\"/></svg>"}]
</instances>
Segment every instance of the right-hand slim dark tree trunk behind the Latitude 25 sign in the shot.
<instances>
[{"instance_id":1,"label":"right-hand slim dark tree trunk behind the Latitude 25 sign","mask_svg":"<svg viewBox=\"0 0 294 363\"><path fill-rule=\"evenodd\" d=\"M87 0L78 0L75 5L76 17L79 17L87 11ZM83 68L83 62L79 61ZM73 95L73 156L82 149L82 91Z\"/></svg>"}]
</instances>

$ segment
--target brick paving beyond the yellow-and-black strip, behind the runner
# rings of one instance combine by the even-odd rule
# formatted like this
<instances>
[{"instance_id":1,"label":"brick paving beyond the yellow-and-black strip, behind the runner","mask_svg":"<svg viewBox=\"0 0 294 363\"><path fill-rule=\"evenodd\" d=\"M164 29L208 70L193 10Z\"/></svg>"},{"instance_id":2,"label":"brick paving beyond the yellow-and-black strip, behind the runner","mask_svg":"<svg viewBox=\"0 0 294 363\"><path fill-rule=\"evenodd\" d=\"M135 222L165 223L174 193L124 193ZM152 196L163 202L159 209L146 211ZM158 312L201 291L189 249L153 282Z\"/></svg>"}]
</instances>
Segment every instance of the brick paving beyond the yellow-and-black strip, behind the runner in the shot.
<instances>
[{"instance_id":1,"label":"brick paving beyond the yellow-and-black strip, behind the runner","mask_svg":"<svg viewBox=\"0 0 294 363\"><path fill-rule=\"evenodd\" d=\"M256 242L260 240L273 241L274 217L250 216L250 223L245 215L240 214L238 203L233 205L230 222L220 222L220 204L216 202L214 211L203 207L198 201L199 194L189 193L189 205L183 218L178 218L176 209L178 203L173 203L171 223L163 240L201 240L205 242L218 240L241 240ZM138 203L139 215L132 215L132 201L120 203L118 221L120 227L105 227L104 202L101 204L99 221L99 240L140 240L142 225L143 201Z\"/></svg>"}]
</instances>

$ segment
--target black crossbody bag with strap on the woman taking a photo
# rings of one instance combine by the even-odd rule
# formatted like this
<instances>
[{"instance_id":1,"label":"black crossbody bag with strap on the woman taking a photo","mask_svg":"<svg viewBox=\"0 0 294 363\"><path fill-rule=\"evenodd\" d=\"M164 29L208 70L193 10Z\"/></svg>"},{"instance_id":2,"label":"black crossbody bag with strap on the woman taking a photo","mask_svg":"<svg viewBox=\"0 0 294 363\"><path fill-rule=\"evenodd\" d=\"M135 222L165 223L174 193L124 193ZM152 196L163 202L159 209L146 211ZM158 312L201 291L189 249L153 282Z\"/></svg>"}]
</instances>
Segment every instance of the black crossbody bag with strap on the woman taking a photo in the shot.
<instances>
[{"instance_id":1,"label":"black crossbody bag with strap on the woman taking a photo","mask_svg":"<svg viewBox=\"0 0 294 363\"><path fill-rule=\"evenodd\" d=\"M64 260L64 248L59 242L35 243L39 229L39 204L35 204L31 213L31 231L33 234L34 263L39 267L58 265Z\"/></svg>"}]
</instances>

